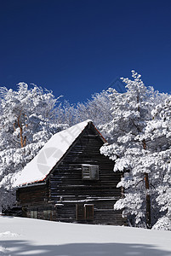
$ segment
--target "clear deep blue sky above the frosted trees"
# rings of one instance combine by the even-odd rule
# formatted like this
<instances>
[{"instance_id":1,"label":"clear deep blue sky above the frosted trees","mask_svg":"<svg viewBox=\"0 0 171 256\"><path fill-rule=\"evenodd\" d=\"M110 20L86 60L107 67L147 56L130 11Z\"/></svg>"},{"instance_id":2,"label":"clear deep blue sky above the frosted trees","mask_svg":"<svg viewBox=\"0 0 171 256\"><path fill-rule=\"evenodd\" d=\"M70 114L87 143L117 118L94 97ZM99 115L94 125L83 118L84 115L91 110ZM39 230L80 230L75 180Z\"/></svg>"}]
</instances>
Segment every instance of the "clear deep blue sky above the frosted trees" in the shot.
<instances>
[{"instance_id":1,"label":"clear deep blue sky above the frosted trees","mask_svg":"<svg viewBox=\"0 0 171 256\"><path fill-rule=\"evenodd\" d=\"M170 0L0 0L0 86L84 102L130 71L171 91Z\"/></svg>"}]
</instances>

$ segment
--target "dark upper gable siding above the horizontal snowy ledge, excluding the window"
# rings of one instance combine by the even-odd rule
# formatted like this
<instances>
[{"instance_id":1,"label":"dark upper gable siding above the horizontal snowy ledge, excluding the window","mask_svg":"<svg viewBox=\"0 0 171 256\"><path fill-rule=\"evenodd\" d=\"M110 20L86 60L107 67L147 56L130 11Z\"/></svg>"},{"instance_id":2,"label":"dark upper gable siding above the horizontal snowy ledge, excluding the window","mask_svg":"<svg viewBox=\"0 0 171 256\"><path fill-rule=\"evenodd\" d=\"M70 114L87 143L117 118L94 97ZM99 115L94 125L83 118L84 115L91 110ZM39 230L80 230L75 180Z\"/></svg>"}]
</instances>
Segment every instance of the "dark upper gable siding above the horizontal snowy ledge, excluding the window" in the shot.
<instances>
[{"instance_id":1,"label":"dark upper gable siding above the horizontal snowy ledge, excluding the window","mask_svg":"<svg viewBox=\"0 0 171 256\"><path fill-rule=\"evenodd\" d=\"M88 135L95 135L94 131L86 130L60 165L54 168L49 178L52 201L58 201L61 197L70 200L113 196L117 199L121 196L121 190L117 189L121 174L113 172L114 161L100 154L103 145L100 137ZM99 180L83 180L82 164L99 165Z\"/></svg>"}]
</instances>

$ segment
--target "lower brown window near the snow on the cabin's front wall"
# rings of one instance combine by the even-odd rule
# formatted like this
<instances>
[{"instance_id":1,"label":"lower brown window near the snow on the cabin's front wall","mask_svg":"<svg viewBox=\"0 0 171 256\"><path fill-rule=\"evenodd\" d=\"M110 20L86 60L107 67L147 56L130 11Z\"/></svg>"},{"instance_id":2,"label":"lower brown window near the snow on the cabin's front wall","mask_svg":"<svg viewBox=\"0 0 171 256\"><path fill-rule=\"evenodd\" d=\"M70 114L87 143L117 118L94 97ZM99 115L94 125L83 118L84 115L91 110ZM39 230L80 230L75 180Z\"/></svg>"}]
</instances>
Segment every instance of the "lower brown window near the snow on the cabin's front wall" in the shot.
<instances>
[{"instance_id":1,"label":"lower brown window near the snow on the cabin's front wall","mask_svg":"<svg viewBox=\"0 0 171 256\"><path fill-rule=\"evenodd\" d=\"M76 219L77 220L93 220L94 219L94 205L93 204L77 204L76 205Z\"/></svg>"}]
</instances>

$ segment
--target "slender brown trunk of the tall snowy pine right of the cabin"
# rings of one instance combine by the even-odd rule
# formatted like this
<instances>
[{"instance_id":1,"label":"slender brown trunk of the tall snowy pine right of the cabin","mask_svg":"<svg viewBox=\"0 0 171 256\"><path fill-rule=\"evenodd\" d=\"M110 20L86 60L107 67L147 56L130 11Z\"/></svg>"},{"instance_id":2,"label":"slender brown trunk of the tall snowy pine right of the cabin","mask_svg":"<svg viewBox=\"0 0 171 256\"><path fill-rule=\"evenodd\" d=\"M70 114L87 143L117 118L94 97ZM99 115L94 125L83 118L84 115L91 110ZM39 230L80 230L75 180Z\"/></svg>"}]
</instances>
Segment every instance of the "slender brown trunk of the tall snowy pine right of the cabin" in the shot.
<instances>
[{"instance_id":1,"label":"slender brown trunk of the tall snowy pine right of the cabin","mask_svg":"<svg viewBox=\"0 0 171 256\"><path fill-rule=\"evenodd\" d=\"M143 148L146 149L145 140L143 140ZM145 173L145 189L146 189L146 227L151 229L151 195L149 194L150 184L148 173Z\"/></svg>"}]
</instances>

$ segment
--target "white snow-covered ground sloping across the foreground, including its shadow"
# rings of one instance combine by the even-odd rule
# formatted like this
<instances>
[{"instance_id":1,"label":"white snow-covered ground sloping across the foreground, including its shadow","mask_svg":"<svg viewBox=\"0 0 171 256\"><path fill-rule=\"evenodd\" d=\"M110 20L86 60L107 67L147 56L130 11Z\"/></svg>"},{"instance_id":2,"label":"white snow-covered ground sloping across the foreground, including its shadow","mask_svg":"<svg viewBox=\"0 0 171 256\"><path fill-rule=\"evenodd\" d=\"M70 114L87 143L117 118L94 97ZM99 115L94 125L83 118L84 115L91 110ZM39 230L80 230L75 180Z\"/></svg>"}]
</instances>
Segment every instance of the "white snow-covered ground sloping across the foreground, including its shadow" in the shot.
<instances>
[{"instance_id":1,"label":"white snow-covered ground sloping across the foreground, including its shadow","mask_svg":"<svg viewBox=\"0 0 171 256\"><path fill-rule=\"evenodd\" d=\"M171 256L171 232L1 216L0 255Z\"/></svg>"}]
</instances>

